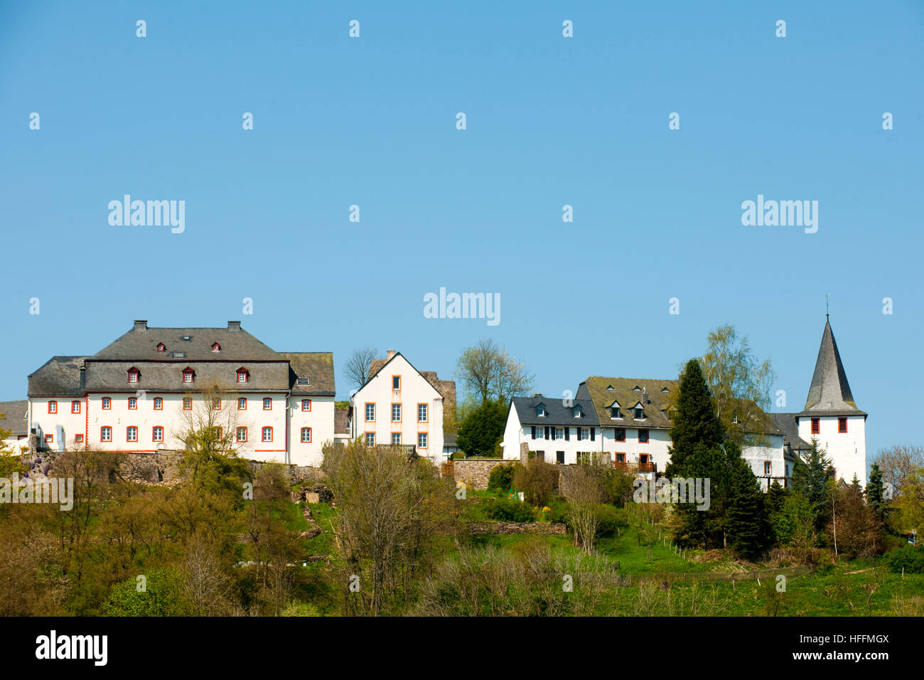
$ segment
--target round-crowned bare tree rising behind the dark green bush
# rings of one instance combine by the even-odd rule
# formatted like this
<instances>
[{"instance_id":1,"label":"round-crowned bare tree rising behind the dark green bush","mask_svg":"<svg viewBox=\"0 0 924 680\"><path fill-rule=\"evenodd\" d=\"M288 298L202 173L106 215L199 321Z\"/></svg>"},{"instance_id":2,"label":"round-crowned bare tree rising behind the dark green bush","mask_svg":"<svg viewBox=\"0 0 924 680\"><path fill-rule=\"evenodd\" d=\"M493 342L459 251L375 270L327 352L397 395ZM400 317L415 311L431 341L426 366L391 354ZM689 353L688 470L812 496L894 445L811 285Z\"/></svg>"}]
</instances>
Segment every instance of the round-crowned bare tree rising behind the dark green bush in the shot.
<instances>
[{"instance_id":1,"label":"round-crowned bare tree rising behind the dark green bush","mask_svg":"<svg viewBox=\"0 0 924 680\"><path fill-rule=\"evenodd\" d=\"M532 376L523 362L488 338L462 351L457 376L469 394L481 402L496 399L505 402L524 394L532 387Z\"/></svg>"}]
</instances>

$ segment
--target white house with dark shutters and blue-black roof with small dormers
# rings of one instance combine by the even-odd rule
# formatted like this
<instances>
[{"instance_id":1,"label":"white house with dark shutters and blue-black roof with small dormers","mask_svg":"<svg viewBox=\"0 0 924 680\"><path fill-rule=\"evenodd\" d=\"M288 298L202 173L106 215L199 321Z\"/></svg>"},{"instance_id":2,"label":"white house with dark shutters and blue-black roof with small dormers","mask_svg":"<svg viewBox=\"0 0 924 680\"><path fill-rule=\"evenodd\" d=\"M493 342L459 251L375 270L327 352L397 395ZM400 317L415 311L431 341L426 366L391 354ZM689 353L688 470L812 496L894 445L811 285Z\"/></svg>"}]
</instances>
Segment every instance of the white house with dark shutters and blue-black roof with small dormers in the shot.
<instances>
[{"instance_id":1,"label":"white house with dark shutters and blue-black roof with small dormers","mask_svg":"<svg viewBox=\"0 0 924 680\"><path fill-rule=\"evenodd\" d=\"M601 449L600 421L586 399L563 400L534 394L514 397L504 428L504 457L520 460L526 444L530 455L553 464L590 463Z\"/></svg>"}]
</instances>

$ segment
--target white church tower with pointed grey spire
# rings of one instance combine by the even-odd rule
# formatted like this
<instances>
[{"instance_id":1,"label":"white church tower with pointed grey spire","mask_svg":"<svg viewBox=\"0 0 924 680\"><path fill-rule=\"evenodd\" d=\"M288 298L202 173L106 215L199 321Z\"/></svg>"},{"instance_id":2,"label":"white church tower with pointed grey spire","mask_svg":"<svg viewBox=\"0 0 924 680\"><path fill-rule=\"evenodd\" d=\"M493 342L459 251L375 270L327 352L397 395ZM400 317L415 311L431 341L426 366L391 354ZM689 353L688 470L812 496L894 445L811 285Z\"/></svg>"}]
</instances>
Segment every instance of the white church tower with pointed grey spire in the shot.
<instances>
[{"instance_id":1,"label":"white church tower with pointed grey spire","mask_svg":"<svg viewBox=\"0 0 924 680\"><path fill-rule=\"evenodd\" d=\"M849 484L856 474L865 487L866 418L867 414L857 408L850 392L831 322L825 315L808 399L805 409L796 414L799 438L809 442L818 439L821 448L831 458L837 478Z\"/></svg>"}]
</instances>

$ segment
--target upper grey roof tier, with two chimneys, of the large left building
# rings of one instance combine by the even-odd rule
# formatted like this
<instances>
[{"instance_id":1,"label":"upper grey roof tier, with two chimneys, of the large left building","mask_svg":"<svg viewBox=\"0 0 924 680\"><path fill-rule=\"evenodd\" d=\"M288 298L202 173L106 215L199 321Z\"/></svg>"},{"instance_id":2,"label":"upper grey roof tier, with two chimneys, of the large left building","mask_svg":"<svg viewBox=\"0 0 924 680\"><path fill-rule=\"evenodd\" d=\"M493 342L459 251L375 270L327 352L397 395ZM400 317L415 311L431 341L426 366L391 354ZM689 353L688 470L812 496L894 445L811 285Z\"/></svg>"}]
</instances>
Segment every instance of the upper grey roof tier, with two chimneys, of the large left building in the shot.
<instances>
[{"instance_id":1,"label":"upper grey roof tier, with two chimneys, of the large left building","mask_svg":"<svg viewBox=\"0 0 924 680\"><path fill-rule=\"evenodd\" d=\"M190 340L182 340L188 337ZM166 345L165 352L157 351L157 344ZM218 342L221 352L213 352ZM183 352L184 357L174 357ZM110 361L281 361L277 352L264 345L229 322L228 328L147 328L147 322L135 322L125 335L92 356L96 360Z\"/></svg>"}]
</instances>

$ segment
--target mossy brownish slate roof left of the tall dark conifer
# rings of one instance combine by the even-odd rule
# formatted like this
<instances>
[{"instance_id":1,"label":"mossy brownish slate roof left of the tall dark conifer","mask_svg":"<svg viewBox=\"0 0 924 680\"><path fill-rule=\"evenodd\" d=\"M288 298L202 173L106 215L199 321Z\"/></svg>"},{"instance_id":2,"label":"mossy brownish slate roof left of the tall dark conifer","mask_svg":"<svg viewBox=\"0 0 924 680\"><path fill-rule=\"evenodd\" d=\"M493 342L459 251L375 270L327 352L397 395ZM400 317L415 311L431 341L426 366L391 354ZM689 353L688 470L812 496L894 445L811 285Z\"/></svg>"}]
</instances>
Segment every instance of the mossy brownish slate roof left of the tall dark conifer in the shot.
<instances>
[{"instance_id":1,"label":"mossy brownish slate roof left of the tall dark conifer","mask_svg":"<svg viewBox=\"0 0 924 680\"><path fill-rule=\"evenodd\" d=\"M664 389L667 391L663 391ZM664 412L675 399L679 389L680 381L676 379L590 376L577 388L577 396L593 402L603 427L669 429L671 421ZM645 419L635 420L631 409L636 403L642 402L643 398ZM610 417L610 406L613 402L618 402L621 407L621 419Z\"/></svg>"}]
</instances>

